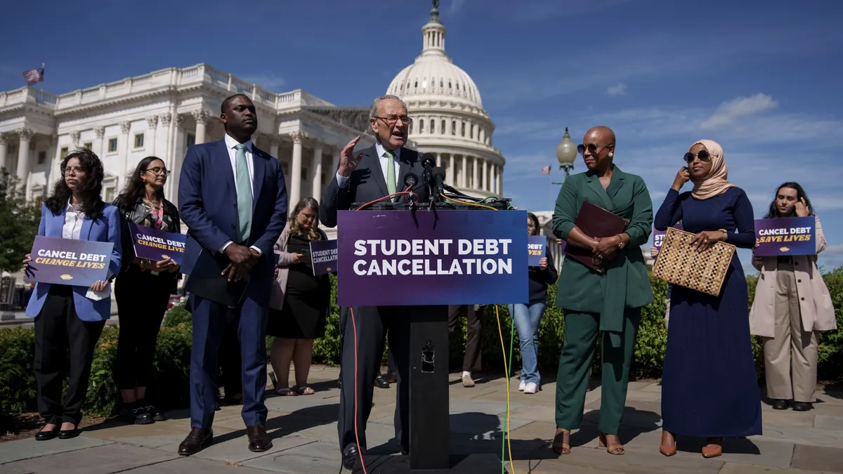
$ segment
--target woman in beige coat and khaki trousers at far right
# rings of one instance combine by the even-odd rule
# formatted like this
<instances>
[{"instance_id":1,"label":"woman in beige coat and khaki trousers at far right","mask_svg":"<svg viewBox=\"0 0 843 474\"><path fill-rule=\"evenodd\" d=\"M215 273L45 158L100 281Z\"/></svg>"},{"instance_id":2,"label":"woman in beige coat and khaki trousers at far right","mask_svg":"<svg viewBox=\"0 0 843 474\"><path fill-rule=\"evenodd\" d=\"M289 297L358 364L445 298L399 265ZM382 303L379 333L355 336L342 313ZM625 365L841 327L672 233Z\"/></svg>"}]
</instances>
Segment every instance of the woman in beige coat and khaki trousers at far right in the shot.
<instances>
[{"instance_id":1,"label":"woman in beige coat and khaki trousers at far right","mask_svg":"<svg viewBox=\"0 0 843 474\"><path fill-rule=\"evenodd\" d=\"M765 218L809 215L813 209L802 186L785 183L776 191ZM813 218L819 254L825 249L825 237L819 218ZM767 396L776 410L786 410L792 403L793 410L808 411L817 385L817 332L837 329L817 256L756 256L752 264L761 274L749 327L752 334L765 337Z\"/></svg>"}]
</instances>

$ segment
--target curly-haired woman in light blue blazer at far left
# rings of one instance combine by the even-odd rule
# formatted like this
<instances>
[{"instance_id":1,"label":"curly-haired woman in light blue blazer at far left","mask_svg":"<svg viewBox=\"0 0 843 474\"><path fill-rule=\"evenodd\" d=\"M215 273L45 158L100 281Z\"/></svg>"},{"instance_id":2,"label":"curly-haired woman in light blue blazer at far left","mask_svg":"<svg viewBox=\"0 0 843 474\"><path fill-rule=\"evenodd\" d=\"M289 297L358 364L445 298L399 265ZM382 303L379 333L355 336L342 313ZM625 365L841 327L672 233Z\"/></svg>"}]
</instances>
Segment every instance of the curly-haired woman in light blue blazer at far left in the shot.
<instances>
[{"instance_id":1,"label":"curly-haired woman in light blue blazer at far left","mask_svg":"<svg viewBox=\"0 0 843 474\"><path fill-rule=\"evenodd\" d=\"M35 318L35 385L38 411L46 420L35 439L45 441L78 435L82 403L88 392L94 348L105 320L111 316L111 283L120 272L120 216L100 199L103 164L94 152L80 149L62 160L62 178L41 206L38 235L67 240L95 240L114 244L107 281L90 288L36 283L26 306ZM30 273L30 255L24 272ZM34 270L35 267L32 268ZM62 403L64 371L68 364L67 394Z\"/></svg>"}]
</instances>

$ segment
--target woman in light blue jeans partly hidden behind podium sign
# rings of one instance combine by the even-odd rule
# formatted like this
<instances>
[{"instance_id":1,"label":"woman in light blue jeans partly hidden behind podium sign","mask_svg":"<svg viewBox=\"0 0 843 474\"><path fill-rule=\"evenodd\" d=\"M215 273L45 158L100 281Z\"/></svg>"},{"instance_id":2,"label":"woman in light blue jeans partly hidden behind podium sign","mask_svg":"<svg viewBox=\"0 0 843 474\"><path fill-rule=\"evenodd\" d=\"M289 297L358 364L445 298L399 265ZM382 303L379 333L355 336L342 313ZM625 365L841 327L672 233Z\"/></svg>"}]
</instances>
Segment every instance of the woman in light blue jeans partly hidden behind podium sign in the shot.
<instances>
[{"instance_id":1,"label":"woman in light blue jeans partly hidden behind podium sign","mask_svg":"<svg viewBox=\"0 0 843 474\"><path fill-rule=\"evenodd\" d=\"M538 235L539 218L534 213L527 213L527 234ZM513 316L518 329L518 342L521 343L521 383L518 391L526 394L539 391L539 325L547 307L547 286L556 283L556 266L550 247L545 245L545 256L539 267L529 267L529 304L510 304L509 314Z\"/></svg>"}]
</instances>

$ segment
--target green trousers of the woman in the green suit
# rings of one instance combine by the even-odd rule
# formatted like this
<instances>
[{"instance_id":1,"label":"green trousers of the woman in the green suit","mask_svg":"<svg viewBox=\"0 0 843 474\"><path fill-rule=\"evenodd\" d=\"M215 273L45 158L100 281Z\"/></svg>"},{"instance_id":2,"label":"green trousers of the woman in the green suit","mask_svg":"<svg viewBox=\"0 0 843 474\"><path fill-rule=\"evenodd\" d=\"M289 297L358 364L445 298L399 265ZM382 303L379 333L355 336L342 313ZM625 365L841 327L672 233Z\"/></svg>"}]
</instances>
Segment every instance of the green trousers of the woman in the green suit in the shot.
<instances>
[{"instance_id":1,"label":"green trousers of the woman in the green suit","mask_svg":"<svg viewBox=\"0 0 843 474\"><path fill-rule=\"evenodd\" d=\"M564 310L565 337L556 375L556 428L577 429L583 423L588 373L594 357L594 342L599 333L600 315ZM641 308L624 310L624 327L620 347L611 347L609 334L603 333L600 344L600 423L604 434L618 434L626 403Z\"/></svg>"}]
</instances>

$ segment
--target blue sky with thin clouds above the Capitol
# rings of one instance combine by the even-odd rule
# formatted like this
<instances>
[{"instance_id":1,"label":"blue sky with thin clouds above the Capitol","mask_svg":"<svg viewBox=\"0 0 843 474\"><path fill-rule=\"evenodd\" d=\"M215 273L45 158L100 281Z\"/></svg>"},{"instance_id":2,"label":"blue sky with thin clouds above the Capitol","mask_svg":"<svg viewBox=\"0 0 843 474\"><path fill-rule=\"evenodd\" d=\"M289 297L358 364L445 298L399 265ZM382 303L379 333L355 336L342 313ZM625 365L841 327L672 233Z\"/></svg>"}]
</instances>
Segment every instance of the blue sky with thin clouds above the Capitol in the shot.
<instances>
[{"instance_id":1,"label":"blue sky with thin clouds above the Capitol","mask_svg":"<svg viewBox=\"0 0 843 474\"><path fill-rule=\"evenodd\" d=\"M368 105L421 51L425 0L235 3L30 1L4 8L0 90L46 62L55 94L207 62L282 92ZM843 3L833 1L442 0L446 46L480 89L507 158L504 191L546 210L565 127L580 143L615 129L615 163L654 207L699 138L721 143L729 178L760 217L799 181L823 219L825 268L843 265ZM25 38L25 40L24 40ZM555 166L556 168L556 166ZM575 172L583 170L578 159ZM749 262L741 253L744 264Z\"/></svg>"}]
</instances>

